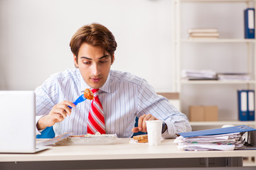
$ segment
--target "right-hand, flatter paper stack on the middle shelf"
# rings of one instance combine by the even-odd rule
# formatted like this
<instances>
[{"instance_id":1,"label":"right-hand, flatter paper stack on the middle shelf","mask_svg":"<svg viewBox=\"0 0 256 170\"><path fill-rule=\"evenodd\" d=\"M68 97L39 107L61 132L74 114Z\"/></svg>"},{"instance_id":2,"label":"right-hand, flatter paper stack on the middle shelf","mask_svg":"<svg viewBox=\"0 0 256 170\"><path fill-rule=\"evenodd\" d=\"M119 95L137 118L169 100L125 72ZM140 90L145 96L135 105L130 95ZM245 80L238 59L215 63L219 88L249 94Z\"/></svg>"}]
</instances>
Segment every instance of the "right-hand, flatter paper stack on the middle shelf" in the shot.
<instances>
[{"instance_id":1,"label":"right-hand, flatter paper stack on the middle shelf","mask_svg":"<svg viewBox=\"0 0 256 170\"><path fill-rule=\"evenodd\" d=\"M246 73L223 73L223 74L218 74L218 79L219 80L250 80L250 75Z\"/></svg>"}]
</instances>

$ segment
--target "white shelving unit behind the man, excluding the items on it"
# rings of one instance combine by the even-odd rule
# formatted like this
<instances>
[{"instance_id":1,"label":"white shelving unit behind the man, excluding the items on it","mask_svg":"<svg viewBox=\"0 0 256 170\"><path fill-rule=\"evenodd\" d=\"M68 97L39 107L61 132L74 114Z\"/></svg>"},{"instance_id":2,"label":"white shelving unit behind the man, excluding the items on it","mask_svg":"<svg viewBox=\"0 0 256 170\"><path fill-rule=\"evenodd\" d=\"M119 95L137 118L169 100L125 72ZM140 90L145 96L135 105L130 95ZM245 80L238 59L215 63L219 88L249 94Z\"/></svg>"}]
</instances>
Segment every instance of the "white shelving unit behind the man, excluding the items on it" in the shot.
<instances>
[{"instance_id":1,"label":"white shelving unit behind the man, excluding the items on it","mask_svg":"<svg viewBox=\"0 0 256 170\"><path fill-rule=\"evenodd\" d=\"M236 120L238 116L238 101L235 100L233 91L237 91L240 87L244 86L243 88L246 89L256 89L256 38L254 39L245 39L242 35L238 34L229 34L229 33L221 33L220 38L188 38L188 34L185 34L185 30L189 28L220 28L224 22L227 22L226 18L215 18L215 12L218 12L218 6L222 12L221 16L225 16L225 7L229 6L228 3L243 3L242 6L240 4L235 4L234 6L230 6L230 8L238 8L239 10L234 10L235 14L240 13L243 15L243 11L245 8L256 8L256 0L174 0L173 1L174 8L173 8L173 55L174 55L174 91L178 91L178 93L183 96L181 98L181 112L189 114L188 106L191 105L201 105L203 103L215 103L221 111L225 108L225 112L228 113L225 115L225 121L222 119L221 121L214 121L214 122L190 122L191 126L195 126L195 129L203 129L207 126L223 126L223 125L248 125L252 127L256 127L256 121L239 121ZM198 4L193 4L193 3ZM186 5L183 5L186 3ZM204 4L200 4L204 3ZM209 10L207 8L211 8L211 4L206 3L213 3L215 8L213 10ZM220 3L220 4L218 4ZM192 4L192 6L191 6ZM206 6L206 8L203 8ZM191 7L191 10L190 10ZM217 7L217 8L216 8ZM193 9L192 9L193 8ZM203 12L206 12L207 18L198 18L198 16L203 17L202 13L199 13L197 10L203 8ZM212 9L212 8L211 8ZM192 13L191 13L192 12ZM226 11L230 12L230 11ZM190 14L191 17L184 17ZM199 15L200 14L200 15ZM230 14L230 13L229 13ZM196 16L196 19L193 17ZM242 16L240 16L242 18ZM219 21L223 19L222 21ZM233 22L230 22L230 29L235 28L236 24L242 27L244 23L240 20L240 23L236 22L236 18L229 18L230 21L233 19ZM187 21L186 21L187 20ZM202 21L201 21L202 20ZM213 20L213 21L208 21ZM215 21L215 22L214 22ZM216 25L218 23L218 25ZM214 24L216 26L214 26ZM223 25L224 26L224 25ZM240 30L241 31L241 30ZM242 33L240 33L242 34ZM233 38L232 38L233 36ZM210 45L210 46L208 46ZM224 46L223 46L224 45ZM228 47L225 47L228 45ZM207 46L207 47L206 47ZM206 47L206 48L205 48ZM222 52L223 51L223 52ZM215 53L216 52L216 53ZM222 52L220 57L225 57L221 64L218 64L218 60L214 60L213 57L218 55L218 52ZM203 58L200 60L203 55L208 55L208 58ZM234 57L233 57L234 56ZM236 61L233 61L236 60ZM240 64L240 61L242 65ZM204 62L206 64L204 64ZM210 63L212 62L212 63ZM229 63L230 62L230 63ZM239 67L238 67L239 66ZM224 69L225 70L240 70L247 69L247 74L250 74L252 80L234 80L234 81L224 81L224 80L186 80L182 79L181 71L183 69L188 68L204 68L207 69ZM239 71L238 71L239 72ZM189 87L193 86L195 89L189 89ZM198 86L201 85L201 86ZM202 93L197 93L197 91L204 91L208 88L209 85L216 86L216 90L220 89L219 91L223 91L230 87L230 90L227 91L227 96L225 98L219 98L218 96L214 96L214 93L210 95L213 96L203 96ZM220 85L220 86L217 86ZM246 86L246 87L245 87ZM205 88L205 89L204 89ZM183 90L184 89L184 90ZM188 90L195 90L190 91L188 94L185 94ZM216 94L217 95L217 94ZM228 96L229 95L229 96ZM188 96L188 97L186 97ZM230 101L229 97L233 97L232 101ZM213 99L213 100L212 100ZM254 98L256 101L256 98ZM225 101L228 100L228 101ZM206 101L206 102L205 102ZM256 103L255 103L256 104ZM220 113L221 115L223 113ZM221 117L221 116L220 116ZM224 118L224 117L223 117ZM227 120L227 121L226 121ZM229 121L228 121L229 120ZM198 126L198 127L196 127ZM206 126L206 127L203 127Z\"/></svg>"}]
</instances>

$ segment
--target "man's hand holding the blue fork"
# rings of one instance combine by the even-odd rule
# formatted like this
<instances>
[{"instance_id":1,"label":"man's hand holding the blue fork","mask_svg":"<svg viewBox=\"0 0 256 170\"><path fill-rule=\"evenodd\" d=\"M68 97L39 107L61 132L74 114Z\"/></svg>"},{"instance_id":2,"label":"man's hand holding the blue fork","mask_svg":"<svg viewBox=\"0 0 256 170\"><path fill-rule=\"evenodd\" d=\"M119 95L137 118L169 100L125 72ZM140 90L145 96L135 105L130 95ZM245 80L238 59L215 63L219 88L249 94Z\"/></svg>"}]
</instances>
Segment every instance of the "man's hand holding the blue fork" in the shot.
<instances>
[{"instance_id":1,"label":"man's hand holding the blue fork","mask_svg":"<svg viewBox=\"0 0 256 170\"><path fill-rule=\"evenodd\" d=\"M75 104L70 101L62 101L53 106L48 115L45 115L38 120L36 128L38 128L38 130L42 130L53 126L55 123L63 121L67 115L71 114L71 108L68 106L75 107Z\"/></svg>"}]
</instances>

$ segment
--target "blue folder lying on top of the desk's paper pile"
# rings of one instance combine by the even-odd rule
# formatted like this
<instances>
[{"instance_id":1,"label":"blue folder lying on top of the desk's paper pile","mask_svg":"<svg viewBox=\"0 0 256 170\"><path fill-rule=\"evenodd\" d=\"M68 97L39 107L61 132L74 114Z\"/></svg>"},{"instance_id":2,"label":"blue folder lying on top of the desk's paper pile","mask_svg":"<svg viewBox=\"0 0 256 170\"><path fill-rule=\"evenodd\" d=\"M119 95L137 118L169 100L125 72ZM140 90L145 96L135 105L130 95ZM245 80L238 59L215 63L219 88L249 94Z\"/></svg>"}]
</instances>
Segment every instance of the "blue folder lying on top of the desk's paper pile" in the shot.
<instances>
[{"instance_id":1,"label":"blue folder lying on top of the desk's paper pile","mask_svg":"<svg viewBox=\"0 0 256 170\"><path fill-rule=\"evenodd\" d=\"M228 133L234 133L234 132L249 132L249 131L255 131L255 128L250 128L246 125L239 125L239 126L233 126L228 128L218 128L218 129L211 129L211 130L198 130L193 132L181 132L178 133L178 135L181 135L182 137L196 137L196 136L204 136L204 135L222 135L222 134L228 134Z\"/></svg>"}]
</instances>

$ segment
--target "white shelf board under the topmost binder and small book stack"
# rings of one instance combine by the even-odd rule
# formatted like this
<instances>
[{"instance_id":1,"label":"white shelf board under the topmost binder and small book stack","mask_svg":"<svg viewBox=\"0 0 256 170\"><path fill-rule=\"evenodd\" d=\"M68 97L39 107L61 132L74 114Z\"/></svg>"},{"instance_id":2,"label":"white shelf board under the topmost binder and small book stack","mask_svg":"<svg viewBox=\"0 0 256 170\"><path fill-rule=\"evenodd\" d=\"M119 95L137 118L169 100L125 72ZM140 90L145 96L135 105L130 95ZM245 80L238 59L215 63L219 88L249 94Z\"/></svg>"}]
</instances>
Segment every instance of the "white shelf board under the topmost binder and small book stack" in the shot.
<instances>
[{"instance_id":1,"label":"white shelf board under the topmost binder and small book stack","mask_svg":"<svg viewBox=\"0 0 256 170\"><path fill-rule=\"evenodd\" d=\"M188 40L188 39L182 39L181 42L210 42L210 43L220 43L220 42L223 42L223 43L230 43L230 42L233 42L233 43L245 43L245 42L256 42L255 39L193 39L193 40Z\"/></svg>"}]
</instances>

